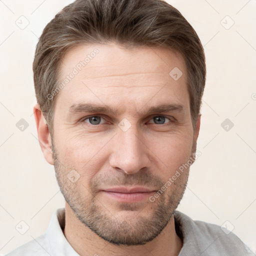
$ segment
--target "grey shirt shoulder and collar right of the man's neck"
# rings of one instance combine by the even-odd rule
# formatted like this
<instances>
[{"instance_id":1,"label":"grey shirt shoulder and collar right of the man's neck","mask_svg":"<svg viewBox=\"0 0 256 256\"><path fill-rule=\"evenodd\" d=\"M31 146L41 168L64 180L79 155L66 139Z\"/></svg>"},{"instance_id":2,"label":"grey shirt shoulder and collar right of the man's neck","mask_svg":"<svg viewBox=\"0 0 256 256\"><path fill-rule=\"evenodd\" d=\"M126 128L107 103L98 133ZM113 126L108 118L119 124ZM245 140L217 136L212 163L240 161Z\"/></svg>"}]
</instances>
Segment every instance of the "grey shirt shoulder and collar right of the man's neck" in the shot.
<instances>
[{"instance_id":1,"label":"grey shirt shoulder and collar right of the man's neck","mask_svg":"<svg viewBox=\"0 0 256 256\"><path fill-rule=\"evenodd\" d=\"M200 220L192 220L180 211L174 212L183 236L183 250L201 255L254 255L252 251L232 232L219 225ZM186 255L181 253L180 255Z\"/></svg>"}]
</instances>

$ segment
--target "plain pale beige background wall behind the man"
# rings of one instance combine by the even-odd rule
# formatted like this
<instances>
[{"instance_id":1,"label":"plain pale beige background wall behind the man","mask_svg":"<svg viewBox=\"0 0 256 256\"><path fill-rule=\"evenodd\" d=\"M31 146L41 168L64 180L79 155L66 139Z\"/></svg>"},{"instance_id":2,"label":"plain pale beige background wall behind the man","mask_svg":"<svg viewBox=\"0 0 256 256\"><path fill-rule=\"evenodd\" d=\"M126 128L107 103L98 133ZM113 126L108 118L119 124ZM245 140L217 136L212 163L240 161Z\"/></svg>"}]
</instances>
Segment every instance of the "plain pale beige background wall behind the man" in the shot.
<instances>
[{"instance_id":1,"label":"plain pale beige background wall behind the man","mask_svg":"<svg viewBox=\"0 0 256 256\"><path fill-rule=\"evenodd\" d=\"M64 205L37 140L31 66L43 27L70 2L0 1L0 254L43 233L52 212ZM191 166L178 210L234 227L256 253L256 0L168 2L195 28L207 61L202 154ZM28 123L23 131L16 127L21 118ZM226 118L234 124L228 131L220 125ZM29 226L24 234L15 229L21 220Z\"/></svg>"}]
</instances>

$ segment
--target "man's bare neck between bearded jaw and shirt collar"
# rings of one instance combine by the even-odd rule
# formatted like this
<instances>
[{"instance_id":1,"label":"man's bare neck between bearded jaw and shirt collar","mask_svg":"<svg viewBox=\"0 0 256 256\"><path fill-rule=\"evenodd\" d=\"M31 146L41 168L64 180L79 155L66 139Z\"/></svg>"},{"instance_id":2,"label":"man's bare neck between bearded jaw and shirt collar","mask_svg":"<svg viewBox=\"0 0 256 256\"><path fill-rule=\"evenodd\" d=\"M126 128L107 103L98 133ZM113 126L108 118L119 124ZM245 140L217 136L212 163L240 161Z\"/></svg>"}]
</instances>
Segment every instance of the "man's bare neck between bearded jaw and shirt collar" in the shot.
<instances>
[{"instance_id":1,"label":"man's bare neck between bearded jaw and shirt collar","mask_svg":"<svg viewBox=\"0 0 256 256\"><path fill-rule=\"evenodd\" d=\"M111 253L133 256L177 256L182 247L182 240L175 232L173 215L161 233L152 241L141 245L115 245L99 237L85 226L66 203L63 233L80 256L111 255Z\"/></svg>"}]
</instances>

